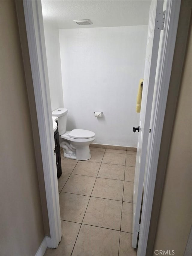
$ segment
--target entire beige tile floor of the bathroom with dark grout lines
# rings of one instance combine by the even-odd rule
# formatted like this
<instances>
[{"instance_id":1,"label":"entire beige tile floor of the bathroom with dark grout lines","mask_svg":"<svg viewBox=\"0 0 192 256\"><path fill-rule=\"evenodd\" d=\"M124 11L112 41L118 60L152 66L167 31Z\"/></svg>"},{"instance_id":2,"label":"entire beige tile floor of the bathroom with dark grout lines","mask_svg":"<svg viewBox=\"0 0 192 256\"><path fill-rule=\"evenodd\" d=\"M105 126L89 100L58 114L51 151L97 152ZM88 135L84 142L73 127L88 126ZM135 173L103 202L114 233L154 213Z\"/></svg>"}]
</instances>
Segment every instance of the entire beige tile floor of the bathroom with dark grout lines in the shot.
<instances>
[{"instance_id":1,"label":"entire beige tile floor of the bathroom with dark grout lines","mask_svg":"<svg viewBox=\"0 0 192 256\"><path fill-rule=\"evenodd\" d=\"M61 153L62 239L45 256L134 256L132 194L136 152L91 148L91 159Z\"/></svg>"}]
</instances>

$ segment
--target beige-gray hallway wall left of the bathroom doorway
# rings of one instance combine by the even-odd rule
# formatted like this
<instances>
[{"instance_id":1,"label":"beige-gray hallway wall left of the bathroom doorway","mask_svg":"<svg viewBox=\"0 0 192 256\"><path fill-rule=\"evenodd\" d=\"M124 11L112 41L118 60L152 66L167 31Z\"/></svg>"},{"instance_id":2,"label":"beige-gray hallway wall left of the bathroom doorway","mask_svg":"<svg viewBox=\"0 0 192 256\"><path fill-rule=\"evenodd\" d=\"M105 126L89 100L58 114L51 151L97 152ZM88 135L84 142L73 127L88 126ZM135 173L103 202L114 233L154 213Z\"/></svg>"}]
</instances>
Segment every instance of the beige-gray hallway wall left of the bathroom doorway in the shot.
<instances>
[{"instance_id":1,"label":"beige-gray hallway wall left of the bathroom doorway","mask_svg":"<svg viewBox=\"0 0 192 256\"><path fill-rule=\"evenodd\" d=\"M35 255L45 234L16 6L0 6L1 255Z\"/></svg>"}]
</instances>

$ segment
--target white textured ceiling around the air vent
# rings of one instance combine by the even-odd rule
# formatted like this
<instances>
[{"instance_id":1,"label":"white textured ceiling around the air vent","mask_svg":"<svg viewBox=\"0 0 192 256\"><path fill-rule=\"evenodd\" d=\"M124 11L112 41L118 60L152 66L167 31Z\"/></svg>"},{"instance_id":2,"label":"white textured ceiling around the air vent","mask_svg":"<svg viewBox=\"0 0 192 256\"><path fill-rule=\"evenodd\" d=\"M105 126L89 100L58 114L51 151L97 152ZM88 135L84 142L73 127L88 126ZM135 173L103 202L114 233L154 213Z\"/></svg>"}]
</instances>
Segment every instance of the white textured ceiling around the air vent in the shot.
<instances>
[{"instance_id":1,"label":"white textured ceiling around the air vent","mask_svg":"<svg viewBox=\"0 0 192 256\"><path fill-rule=\"evenodd\" d=\"M148 25L148 0L42 0L46 25L58 29ZM79 26L73 20L89 19L92 25Z\"/></svg>"}]
</instances>

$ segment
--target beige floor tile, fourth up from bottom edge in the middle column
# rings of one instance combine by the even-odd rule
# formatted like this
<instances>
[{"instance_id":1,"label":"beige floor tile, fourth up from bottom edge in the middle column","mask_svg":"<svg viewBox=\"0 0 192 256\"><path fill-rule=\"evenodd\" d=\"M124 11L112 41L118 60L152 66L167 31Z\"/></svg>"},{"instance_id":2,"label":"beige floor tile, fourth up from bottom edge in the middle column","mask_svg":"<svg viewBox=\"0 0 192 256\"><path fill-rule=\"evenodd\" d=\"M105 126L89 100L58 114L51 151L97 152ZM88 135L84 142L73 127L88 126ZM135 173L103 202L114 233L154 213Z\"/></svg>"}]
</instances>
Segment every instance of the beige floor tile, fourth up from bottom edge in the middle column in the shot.
<instances>
[{"instance_id":1,"label":"beige floor tile, fourth up from bottom edge in the middle column","mask_svg":"<svg viewBox=\"0 0 192 256\"><path fill-rule=\"evenodd\" d=\"M125 166L117 164L101 164L98 177L124 180Z\"/></svg>"}]
</instances>

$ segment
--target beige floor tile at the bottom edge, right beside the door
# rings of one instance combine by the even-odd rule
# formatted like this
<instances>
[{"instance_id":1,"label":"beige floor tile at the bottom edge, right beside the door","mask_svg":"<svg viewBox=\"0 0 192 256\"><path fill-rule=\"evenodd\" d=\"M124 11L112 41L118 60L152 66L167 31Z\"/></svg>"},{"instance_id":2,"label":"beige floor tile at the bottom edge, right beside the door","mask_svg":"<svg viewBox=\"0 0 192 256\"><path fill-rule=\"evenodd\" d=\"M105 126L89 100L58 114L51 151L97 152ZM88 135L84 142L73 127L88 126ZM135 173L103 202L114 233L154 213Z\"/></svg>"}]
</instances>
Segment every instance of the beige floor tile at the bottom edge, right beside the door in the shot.
<instances>
[{"instance_id":1,"label":"beige floor tile at the bottom edge, right beside the door","mask_svg":"<svg viewBox=\"0 0 192 256\"><path fill-rule=\"evenodd\" d=\"M132 234L120 233L119 256L136 256L137 251L132 247Z\"/></svg>"}]
</instances>

